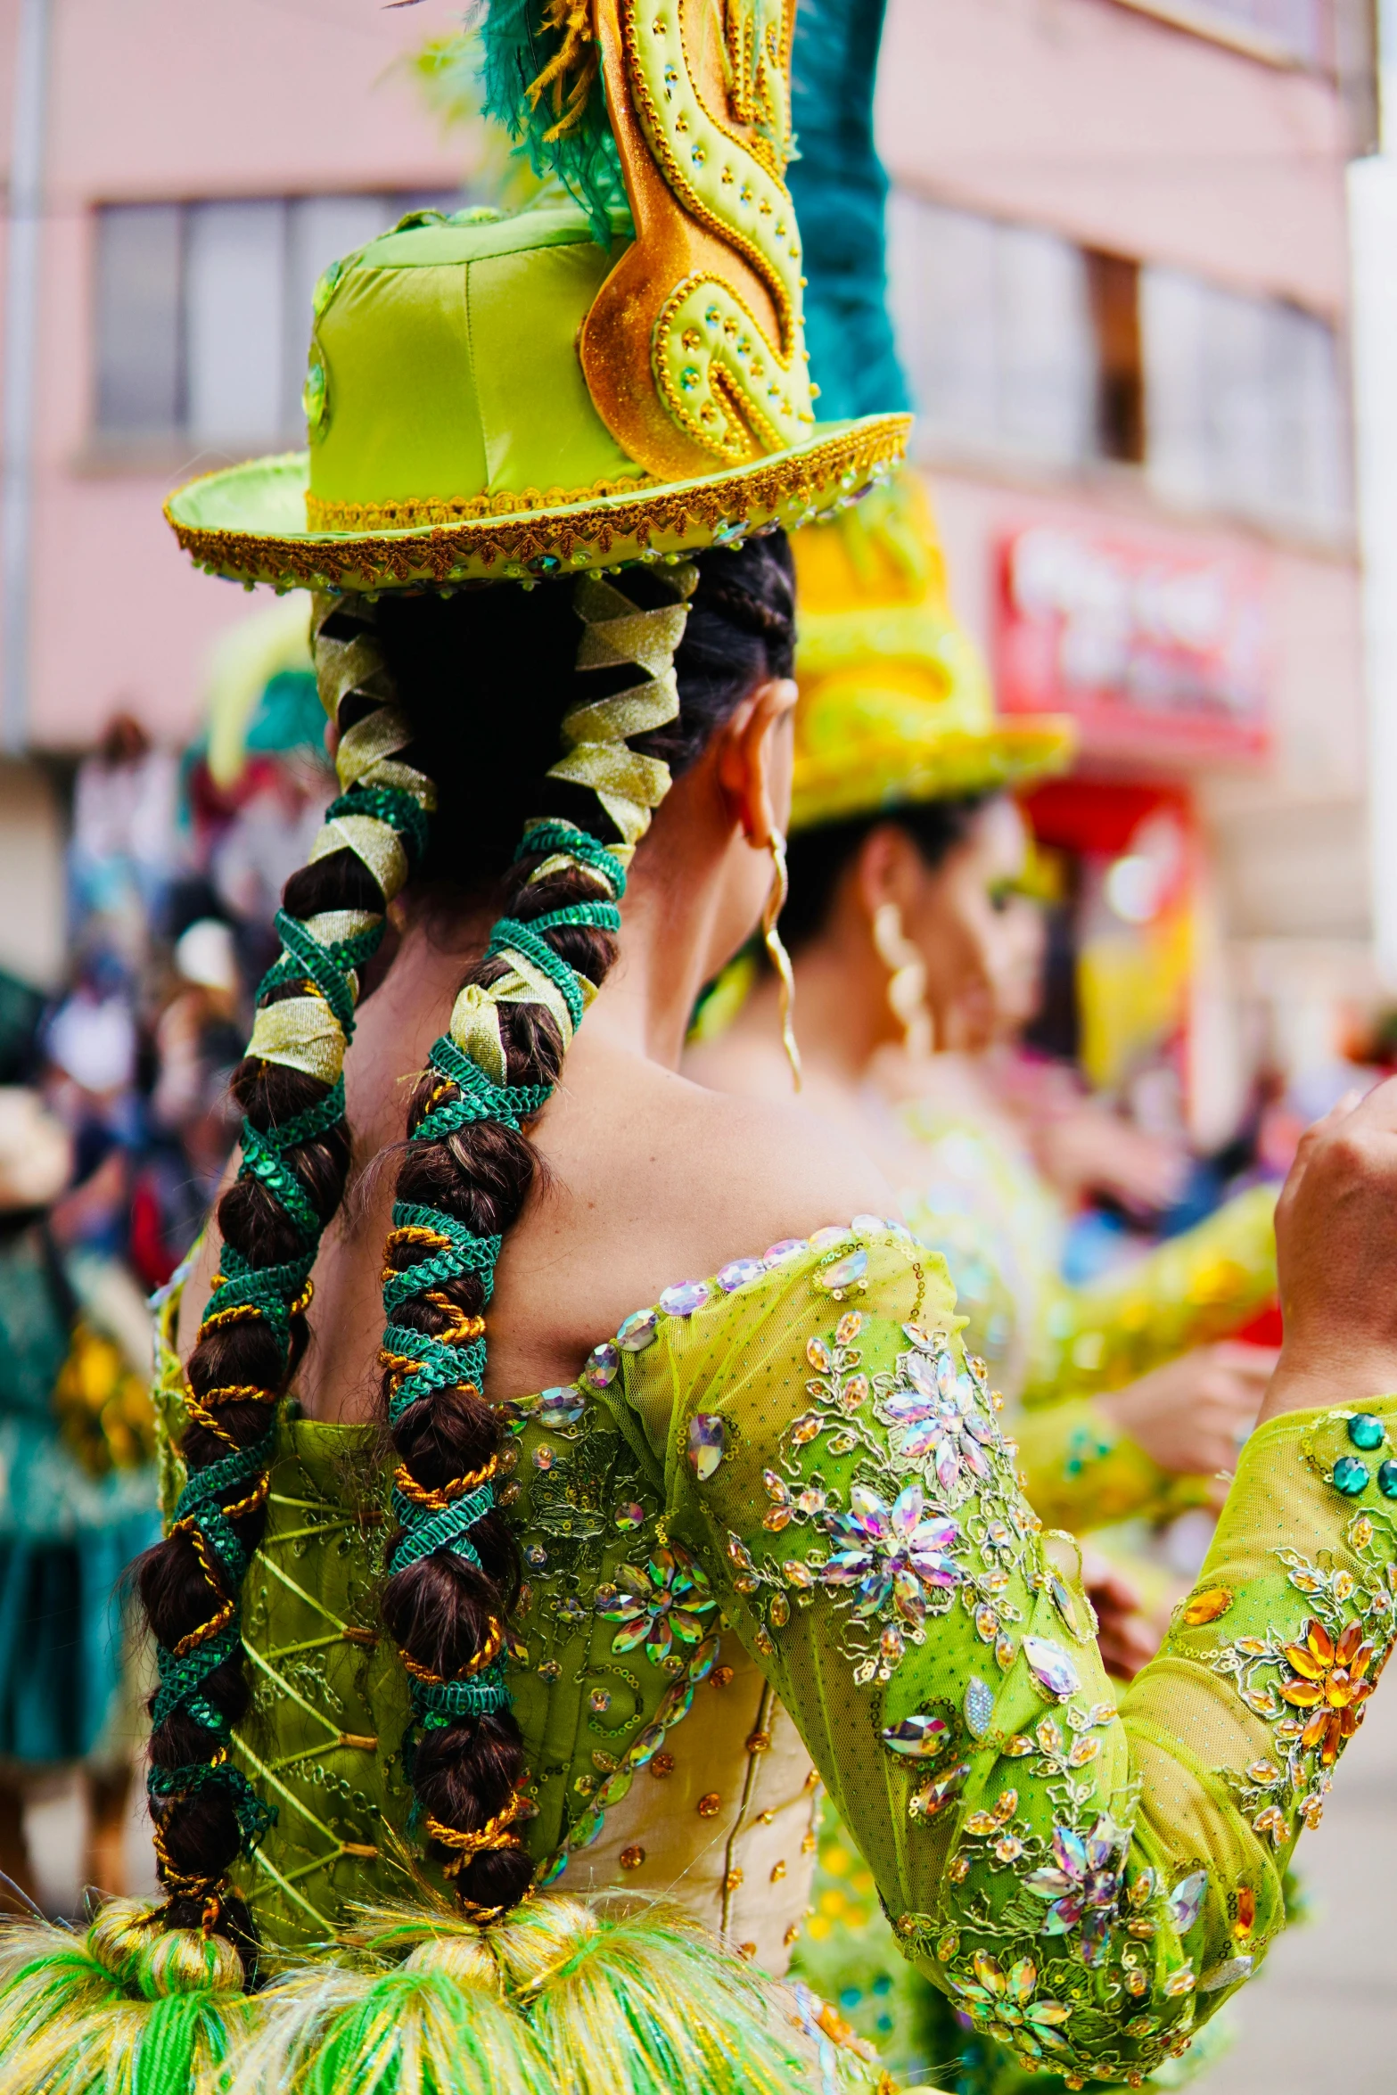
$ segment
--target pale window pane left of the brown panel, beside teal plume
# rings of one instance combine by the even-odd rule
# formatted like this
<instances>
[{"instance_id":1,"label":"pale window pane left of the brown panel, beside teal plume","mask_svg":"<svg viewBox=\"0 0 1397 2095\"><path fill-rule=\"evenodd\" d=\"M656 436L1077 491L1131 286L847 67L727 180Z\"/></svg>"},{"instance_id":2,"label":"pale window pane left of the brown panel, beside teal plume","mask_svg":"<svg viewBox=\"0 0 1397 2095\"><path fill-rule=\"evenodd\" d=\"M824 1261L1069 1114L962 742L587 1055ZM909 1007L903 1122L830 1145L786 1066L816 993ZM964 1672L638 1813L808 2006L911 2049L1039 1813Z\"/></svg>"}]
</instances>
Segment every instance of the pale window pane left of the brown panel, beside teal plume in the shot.
<instances>
[{"instance_id":1,"label":"pale window pane left of the brown panel, beside teal plume","mask_svg":"<svg viewBox=\"0 0 1397 2095\"><path fill-rule=\"evenodd\" d=\"M1097 352L1087 258L1014 226L894 191L892 312L936 453L1079 465L1097 444Z\"/></svg>"}]
</instances>

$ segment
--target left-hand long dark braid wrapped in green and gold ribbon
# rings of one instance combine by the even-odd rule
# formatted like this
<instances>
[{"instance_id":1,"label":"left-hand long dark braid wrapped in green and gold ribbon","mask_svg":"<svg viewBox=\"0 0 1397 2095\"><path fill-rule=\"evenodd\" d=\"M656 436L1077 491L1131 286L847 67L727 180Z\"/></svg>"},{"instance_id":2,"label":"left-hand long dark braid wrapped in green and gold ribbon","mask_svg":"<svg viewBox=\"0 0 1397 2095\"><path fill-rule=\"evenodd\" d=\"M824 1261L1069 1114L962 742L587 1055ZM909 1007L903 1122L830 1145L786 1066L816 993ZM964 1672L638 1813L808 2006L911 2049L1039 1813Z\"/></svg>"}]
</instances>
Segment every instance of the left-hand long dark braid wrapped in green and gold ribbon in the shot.
<instances>
[{"instance_id":1,"label":"left-hand long dark braid wrapped in green and gold ribbon","mask_svg":"<svg viewBox=\"0 0 1397 2095\"><path fill-rule=\"evenodd\" d=\"M163 1921L232 1940L251 1976L253 1936L226 1871L272 1810L228 1756L249 1701L239 1590L262 1527L272 1416L306 1347L310 1267L350 1163L343 1050L358 970L387 903L421 863L429 777L387 704L373 608L316 605L320 691L339 729L341 796L310 863L287 882L281 955L232 1094L245 1112L237 1184L218 1205L220 1272L189 1360L189 1473L170 1536L138 1567L157 1645L151 1812Z\"/></svg>"}]
</instances>

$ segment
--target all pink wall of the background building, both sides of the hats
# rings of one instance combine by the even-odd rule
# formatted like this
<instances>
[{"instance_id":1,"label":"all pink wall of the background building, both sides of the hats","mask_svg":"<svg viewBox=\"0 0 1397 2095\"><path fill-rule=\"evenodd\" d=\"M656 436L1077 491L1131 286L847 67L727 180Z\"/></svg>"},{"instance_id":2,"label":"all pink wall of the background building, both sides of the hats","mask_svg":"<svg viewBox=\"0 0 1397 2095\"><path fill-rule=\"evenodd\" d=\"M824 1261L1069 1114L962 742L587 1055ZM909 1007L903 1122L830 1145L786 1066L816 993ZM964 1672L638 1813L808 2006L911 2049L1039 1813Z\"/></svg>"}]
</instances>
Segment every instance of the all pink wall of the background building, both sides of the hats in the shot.
<instances>
[{"instance_id":1,"label":"all pink wall of the background building, both sides of the hats","mask_svg":"<svg viewBox=\"0 0 1397 2095\"><path fill-rule=\"evenodd\" d=\"M159 515L170 486L220 457L172 453L132 469L94 450L92 205L452 186L471 140L442 138L400 69L404 52L452 27L448 0L50 6L29 725L38 746L75 750L117 704L159 735L186 735L209 643L243 616L228 585L184 566ZM15 23L10 0L0 10L0 151ZM909 191L1343 316L1351 142L1330 80L1116 0L890 0L880 138ZM1219 861L1238 865L1242 928L1273 930L1296 907L1307 928L1324 920L1359 936L1361 689L1345 549L1315 553L1169 513L1121 467L1047 484L955 463L938 471L938 505L953 589L982 635L991 547L1028 511L1202 530L1263 551L1280 662L1276 758L1255 779L1204 781ZM1267 836L1296 807L1326 811L1311 836L1343 842L1273 905L1246 855L1255 842L1265 859Z\"/></svg>"}]
</instances>

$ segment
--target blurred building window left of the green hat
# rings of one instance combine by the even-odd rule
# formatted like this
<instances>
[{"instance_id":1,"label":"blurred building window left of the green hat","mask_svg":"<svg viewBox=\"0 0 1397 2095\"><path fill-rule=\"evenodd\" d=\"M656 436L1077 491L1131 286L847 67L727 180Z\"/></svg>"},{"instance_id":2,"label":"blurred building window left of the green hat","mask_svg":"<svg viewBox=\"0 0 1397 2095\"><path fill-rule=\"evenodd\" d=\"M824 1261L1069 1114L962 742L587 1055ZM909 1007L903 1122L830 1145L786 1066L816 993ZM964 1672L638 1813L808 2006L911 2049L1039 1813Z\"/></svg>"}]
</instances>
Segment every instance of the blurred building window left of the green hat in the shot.
<instances>
[{"instance_id":1,"label":"blurred building window left of the green hat","mask_svg":"<svg viewBox=\"0 0 1397 2095\"><path fill-rule=\"evenodd\" d=\"M256 450L300 440L320 270L442 195L107 203L96 212L96 432Z\"/></svg>"}]
</instances>

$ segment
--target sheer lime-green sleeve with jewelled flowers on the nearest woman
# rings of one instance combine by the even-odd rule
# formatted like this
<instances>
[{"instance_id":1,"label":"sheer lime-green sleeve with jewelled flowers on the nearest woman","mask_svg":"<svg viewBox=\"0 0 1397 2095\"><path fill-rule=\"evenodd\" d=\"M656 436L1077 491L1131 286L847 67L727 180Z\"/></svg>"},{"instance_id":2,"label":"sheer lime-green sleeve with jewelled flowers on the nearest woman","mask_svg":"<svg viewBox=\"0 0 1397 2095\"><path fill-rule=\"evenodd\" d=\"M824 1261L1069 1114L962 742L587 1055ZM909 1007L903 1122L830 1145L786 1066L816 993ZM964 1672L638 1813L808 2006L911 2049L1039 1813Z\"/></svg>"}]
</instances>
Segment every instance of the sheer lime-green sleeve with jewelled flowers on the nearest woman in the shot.
<instances>
[{"instance_id":1,"label":"sheer lime-green sleeve with jewelled flowers on the nearest woman","mask_svg":"<svg viewBox=\"0 0 1397 2095\"><path fill-rule=\"evenodd\" d=\"M1070 2087L1133 2082L1282 1925L1393 1634L1397 1397L1252 1435L1116 1712L957 1326L945 1265L869 1226L668 1318L624 1397L905 1955Z\"/></svg>"}]
</instances>

